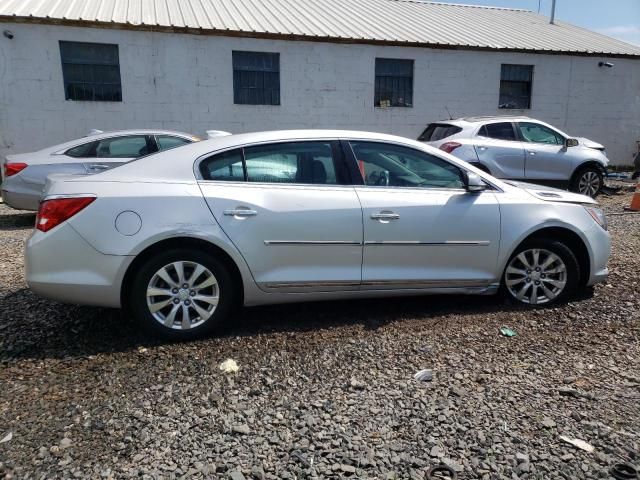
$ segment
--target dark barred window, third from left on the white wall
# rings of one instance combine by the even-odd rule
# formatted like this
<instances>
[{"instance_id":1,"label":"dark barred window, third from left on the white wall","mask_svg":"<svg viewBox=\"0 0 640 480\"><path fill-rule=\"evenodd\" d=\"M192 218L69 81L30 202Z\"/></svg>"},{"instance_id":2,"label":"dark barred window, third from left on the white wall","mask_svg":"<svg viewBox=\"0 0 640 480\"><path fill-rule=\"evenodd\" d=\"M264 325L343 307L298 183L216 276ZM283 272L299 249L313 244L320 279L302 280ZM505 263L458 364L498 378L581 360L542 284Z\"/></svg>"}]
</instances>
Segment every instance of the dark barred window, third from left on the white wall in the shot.
<instances>
[{"instance_id":1,"label":"dark barred window, third from left on the white wall","mask_svg":"<svg viewBox=\"0 0 640 480\"><path fill-rule=\"evenodd\" d=\"M376 107L413 107L413 60L376 58Z\"/></svg>"}]
</instances>

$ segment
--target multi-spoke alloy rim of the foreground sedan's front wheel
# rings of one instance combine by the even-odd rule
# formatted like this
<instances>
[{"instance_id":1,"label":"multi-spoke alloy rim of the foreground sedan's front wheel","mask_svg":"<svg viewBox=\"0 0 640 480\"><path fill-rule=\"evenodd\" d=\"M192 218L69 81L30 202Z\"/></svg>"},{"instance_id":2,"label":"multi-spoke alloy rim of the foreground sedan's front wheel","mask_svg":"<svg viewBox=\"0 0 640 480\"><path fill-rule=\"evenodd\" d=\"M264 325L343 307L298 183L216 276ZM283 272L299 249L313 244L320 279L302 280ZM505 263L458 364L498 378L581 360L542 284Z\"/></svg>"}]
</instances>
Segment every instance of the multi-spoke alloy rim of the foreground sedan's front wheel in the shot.
<instances>
[{"instance_id":1,"label":"multi-spoke alloy rim of the foreground sedan's front wheel","mask_svg":"<svg viewBox=\"0 0 640 480\"><path fill-rule=\"evenodd\" d=\"M531 305L549 303L567 285L567 266L549 250L532 248L513 257L504 274L509 293Z\"/></svg>"}]
</instances>

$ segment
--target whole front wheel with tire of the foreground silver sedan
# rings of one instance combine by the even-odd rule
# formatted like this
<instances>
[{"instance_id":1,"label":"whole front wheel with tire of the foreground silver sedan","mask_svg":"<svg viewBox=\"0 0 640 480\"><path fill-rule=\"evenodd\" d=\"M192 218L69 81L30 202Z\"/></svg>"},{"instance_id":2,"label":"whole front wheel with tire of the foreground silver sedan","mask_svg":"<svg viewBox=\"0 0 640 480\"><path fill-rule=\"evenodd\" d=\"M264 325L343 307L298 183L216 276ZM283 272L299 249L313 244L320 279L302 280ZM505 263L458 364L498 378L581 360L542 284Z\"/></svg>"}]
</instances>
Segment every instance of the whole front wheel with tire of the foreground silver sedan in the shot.
<instances>
[{"instance_id":1,"label":"whole front wheel with tire of the foreground silver sedan","mask_svg":"<svg viewBox=\"0 0 640 480\"><path fill-rule=\"evenodd\" d=\"M511 256L503 275L503 289L527 305L550 305L572 295L580 280L580 266L563 243L532 239Z\"/></svg>"}]
</instances>

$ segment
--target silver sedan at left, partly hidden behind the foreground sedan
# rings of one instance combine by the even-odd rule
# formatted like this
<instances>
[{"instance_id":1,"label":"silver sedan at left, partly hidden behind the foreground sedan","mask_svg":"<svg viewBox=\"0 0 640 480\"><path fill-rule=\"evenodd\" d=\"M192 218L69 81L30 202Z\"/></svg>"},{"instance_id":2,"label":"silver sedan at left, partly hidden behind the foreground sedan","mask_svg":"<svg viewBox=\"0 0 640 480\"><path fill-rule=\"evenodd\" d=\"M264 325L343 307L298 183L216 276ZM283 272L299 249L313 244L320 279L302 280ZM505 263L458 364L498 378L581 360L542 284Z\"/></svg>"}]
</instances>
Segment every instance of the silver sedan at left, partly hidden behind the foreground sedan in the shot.
<instances>
[{"instance_id":1,"label":"silver sedan at left, partly hidden behind the foreground sedan","mask_svg":"<svg viewBox=\"0 0 640 480\"><path fill-rule=\"evenodd\" d=\"M134 158L200 140L171 130L94 132L36 152L7 155L2 162L4 202L19 210L38 210L42 189L51 174L98 173Z\"/></svg>"}]
</instances>

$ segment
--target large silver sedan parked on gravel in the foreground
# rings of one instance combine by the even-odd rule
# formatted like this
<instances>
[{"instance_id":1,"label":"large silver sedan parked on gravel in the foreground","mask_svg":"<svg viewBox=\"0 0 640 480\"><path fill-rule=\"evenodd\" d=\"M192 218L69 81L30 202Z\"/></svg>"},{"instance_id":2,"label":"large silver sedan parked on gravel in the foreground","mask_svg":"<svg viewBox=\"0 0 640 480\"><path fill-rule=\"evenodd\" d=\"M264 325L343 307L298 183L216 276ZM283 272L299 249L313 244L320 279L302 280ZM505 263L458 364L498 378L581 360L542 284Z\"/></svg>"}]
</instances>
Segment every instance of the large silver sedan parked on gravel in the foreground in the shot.
<instances>
[{"instance_id":1,"label":"large silver sedan parked on gravel in the foreground","mask_svg":"<svg viewBox=\"0 0 640 480\"><path fill-rule=\"evenodd\" d=\"M185 339L239 305L499 290L552 304L605 280L609 253L587 196L504 182L405 138L300 130L50 181L26 278Z\"/></svg>"}]
</instances>

